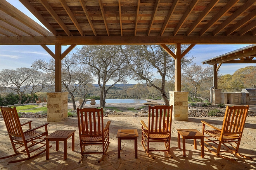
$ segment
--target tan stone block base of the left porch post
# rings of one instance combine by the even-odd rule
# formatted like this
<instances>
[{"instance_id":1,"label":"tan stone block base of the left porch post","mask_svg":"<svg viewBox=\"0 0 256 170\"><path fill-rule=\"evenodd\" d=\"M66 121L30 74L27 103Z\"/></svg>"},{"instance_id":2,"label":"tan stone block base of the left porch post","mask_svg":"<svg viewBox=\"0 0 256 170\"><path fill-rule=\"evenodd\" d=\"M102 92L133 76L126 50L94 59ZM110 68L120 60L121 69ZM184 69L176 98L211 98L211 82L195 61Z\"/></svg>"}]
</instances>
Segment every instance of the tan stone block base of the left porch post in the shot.
<instances>
[{"instance_id":1,"label":"tan stone block base of the left porch post","mask_svg":"<svg viewBox=\"0 0 256 170\"><path fill-rule=\"evenodd\" d=\"M47 93L47 121L57 122L67 118L68 92Z\"/></svg>"}]
</instances>

